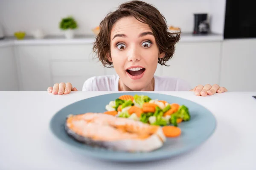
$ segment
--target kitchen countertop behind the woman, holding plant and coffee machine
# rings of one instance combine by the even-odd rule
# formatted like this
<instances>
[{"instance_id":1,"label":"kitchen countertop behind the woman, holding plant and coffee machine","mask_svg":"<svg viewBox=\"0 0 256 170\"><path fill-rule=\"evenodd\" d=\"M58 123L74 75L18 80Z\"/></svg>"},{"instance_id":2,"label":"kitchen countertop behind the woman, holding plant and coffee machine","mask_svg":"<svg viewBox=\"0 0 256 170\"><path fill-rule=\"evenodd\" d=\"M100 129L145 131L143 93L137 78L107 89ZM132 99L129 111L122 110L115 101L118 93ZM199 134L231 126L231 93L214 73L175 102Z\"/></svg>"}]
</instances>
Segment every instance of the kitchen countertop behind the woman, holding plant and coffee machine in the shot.
<instances>
[{"instance_id":1,"label":"kitchen countertop behind the woman, holding plant and coffee machine","mask_svg":"<svg viewBox=\"0 0 256 170\"><path fill-rule=\"evenodd\" d=\"M15 37L6 37L0 40L0 47L6 45L58 45L58 44L92 44L94 35L76 35L74 39L65 39L64 36L46 36L44 39L36 40L32 36L26 36L24 40L17 40ZM180 42L212 42L222 41L223 35L207 34L193 35L182 33Z\"/></svg>"}]
</instances>

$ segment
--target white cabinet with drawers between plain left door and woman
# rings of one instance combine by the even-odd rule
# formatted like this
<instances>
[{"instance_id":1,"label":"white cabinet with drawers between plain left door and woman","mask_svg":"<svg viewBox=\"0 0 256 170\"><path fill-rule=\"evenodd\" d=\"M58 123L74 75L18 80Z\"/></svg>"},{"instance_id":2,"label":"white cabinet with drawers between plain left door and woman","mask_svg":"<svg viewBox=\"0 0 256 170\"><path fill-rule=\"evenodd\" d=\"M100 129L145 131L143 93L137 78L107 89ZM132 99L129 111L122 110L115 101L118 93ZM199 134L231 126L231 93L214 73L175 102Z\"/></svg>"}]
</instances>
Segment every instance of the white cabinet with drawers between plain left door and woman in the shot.
<instances>
[{"instance_id":1,"label":"white cabinet with drawers between plain left door and woman","mask_svg":"<svg viewBox=\"0 0 256 170\"><path fill-rule=\"evenodd\" d=\"M106 74L101 62L93 59L93 44L84 45L53 45L50 46L50 70L52 85L70 82L79 91L84 82L93 76ZM108 69L108 68L107 68ZM111 73L111 68L109 68Z\"/></svg>"}]
</instances>

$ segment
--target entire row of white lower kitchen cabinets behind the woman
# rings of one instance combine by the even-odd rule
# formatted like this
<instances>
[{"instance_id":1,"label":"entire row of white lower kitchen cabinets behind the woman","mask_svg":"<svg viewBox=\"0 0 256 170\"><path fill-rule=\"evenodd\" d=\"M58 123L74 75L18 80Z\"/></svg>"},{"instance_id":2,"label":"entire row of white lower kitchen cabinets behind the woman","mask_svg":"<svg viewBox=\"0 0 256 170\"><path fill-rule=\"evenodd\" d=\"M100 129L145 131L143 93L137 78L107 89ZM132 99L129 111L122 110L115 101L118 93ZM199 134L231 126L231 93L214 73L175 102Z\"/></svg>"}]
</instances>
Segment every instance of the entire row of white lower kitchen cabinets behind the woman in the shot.
<instances>
[{"instance_id":1,"label":"entire row of white lower kitchen cabinets behind the woman","mask_svg":"<svg viewBox=\"0 0 256 170\"><path fill-rule=\"evenodd\" d=\"M185 79L191 88L209 83L229 91L256 91L255 46L256 39L179 42L166 63L170 66L158 64L155 75ZM46 91L54 83L71 82L81 91L90 77L116 74L93 59L92 48L91 43L2 46L0 90Z\"/></svg>"}]
</instances>

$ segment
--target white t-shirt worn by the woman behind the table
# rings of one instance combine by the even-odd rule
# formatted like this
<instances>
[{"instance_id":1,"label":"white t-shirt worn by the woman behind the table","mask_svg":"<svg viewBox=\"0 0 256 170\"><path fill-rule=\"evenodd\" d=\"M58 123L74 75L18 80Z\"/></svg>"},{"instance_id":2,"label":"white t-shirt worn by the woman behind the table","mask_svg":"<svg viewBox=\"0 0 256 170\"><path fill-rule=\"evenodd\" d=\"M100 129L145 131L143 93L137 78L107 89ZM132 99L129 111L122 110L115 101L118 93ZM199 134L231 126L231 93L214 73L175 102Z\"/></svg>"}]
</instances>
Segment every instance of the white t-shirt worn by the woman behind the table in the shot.
<instances>
[{"instance_id":1,"label":"white t-shirt worn by the woman behind the table","mask_svg":"<svg viewBox=\"0 0 256 170\"><path fill-rule=\"evenodd\" d=\"M118 91L118 85L117 74L94 76L84 82L82 91ZM190 89L189 83L183 79L154 76L154 91L189 91Z\"/></svg>"}]
</instances>

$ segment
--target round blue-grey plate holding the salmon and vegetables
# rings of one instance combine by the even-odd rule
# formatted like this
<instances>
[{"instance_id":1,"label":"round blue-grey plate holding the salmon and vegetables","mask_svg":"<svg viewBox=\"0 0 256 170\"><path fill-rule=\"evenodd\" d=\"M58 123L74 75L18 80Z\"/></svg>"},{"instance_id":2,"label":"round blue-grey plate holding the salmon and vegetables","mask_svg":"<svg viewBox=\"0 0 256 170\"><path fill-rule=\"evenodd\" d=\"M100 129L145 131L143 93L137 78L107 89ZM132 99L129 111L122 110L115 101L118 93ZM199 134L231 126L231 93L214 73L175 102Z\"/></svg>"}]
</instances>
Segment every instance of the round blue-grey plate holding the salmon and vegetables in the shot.
<instances>
[{"instance_id":1,"label":"round blue-grey plate holding the salmon and vegetables","mask_svg":"<svg viewBox=\"0 0 256 170\"><path fill-rule=\"evenodd\" d=\"M116 152L103 148L95 148L86 144L79 143L73 138L67 135L64 130L64 123L67 115L69 114L81 114L87 112L105 112L105 106L110 102L117 99L124 94L130 95L146 95L151 99L165 100L169 103L178 103L180 105L186 105L189 108L191 119L188 122L181 122L179 127L182 131L181 135L177 138L167 138L167 141L158 150L154 150L150 153L126 153ZM76 150L79 153L111 161L122 162L135 162L135 161L152 161L158 159L165 159L172 156L177 156L181 153L185 153L189 150L198 147L205 142L214 132L216 127L216 120L212 113L201 105L195 102L166 94L156 93L143 93L143 92L125 92L125 93L113 93L104 94L100 96L94 96L91 98L83 99L75 102L71 105L58 111L51 119L50 129L52 133L64 142L67 147L72 150Z\"/></svg>"}]
</instances>

